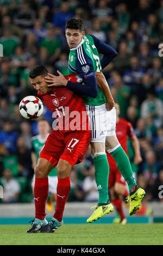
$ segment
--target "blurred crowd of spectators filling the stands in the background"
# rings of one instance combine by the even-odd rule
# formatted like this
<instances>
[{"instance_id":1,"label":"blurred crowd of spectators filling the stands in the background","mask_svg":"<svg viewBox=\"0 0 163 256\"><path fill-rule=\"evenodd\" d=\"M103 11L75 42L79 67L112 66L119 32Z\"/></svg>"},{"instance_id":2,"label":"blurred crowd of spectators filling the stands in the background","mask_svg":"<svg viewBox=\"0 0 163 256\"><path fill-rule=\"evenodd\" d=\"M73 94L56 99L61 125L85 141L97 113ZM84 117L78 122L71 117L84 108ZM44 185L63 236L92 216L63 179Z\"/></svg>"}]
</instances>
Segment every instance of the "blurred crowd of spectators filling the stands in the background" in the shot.
<instances>
[{"instance_id":1,"label":"blurred crowd of spectators filling the stands in the background","mask_svg":"<svg viewBox=\"0 0 163 256\"><path fill-rule=\"evenodd\" d=\"M147 200L158 197L163 185L163 1L140 0L1 0L0 1L0 183L9 196L1 202L31 202L31 138L41 118L52 125L45 107L42 117L24 119L18 105L36 95L28 74L35 65L68 74L69 48L65 23L72 17L85 23L85 32L118 52L103 73L121 114L139 138L142 163L134 167ZM163 50L162 50L163 53ZM160 56L159 56L160 55ZM129 156L134 155L129 144ZM97 201L90 149L74 166L69 201ZM8 187L9 186L9 187Z\"/></svg>"}]
</instances>

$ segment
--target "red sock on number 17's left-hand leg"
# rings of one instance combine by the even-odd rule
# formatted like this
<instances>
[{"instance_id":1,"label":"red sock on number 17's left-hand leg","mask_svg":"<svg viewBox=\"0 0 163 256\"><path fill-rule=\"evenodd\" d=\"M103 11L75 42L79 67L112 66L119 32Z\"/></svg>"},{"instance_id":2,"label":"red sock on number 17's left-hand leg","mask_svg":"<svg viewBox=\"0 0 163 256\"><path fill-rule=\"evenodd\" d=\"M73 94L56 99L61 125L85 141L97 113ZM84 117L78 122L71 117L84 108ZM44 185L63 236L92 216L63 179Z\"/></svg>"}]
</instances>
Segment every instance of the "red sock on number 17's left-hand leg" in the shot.
<instances>
[{"instance_id":1,"label":"red sock on number 17's left-hand leg","mask_svg":"<svg viewBox=\"0 0 163 256\"><path fill-rule=\"evenodd\" d=\"M48 197L48 177L35 178L34 199L35 199L35 218L44 220L46 199Z\"/></svg>"}]
</instances>

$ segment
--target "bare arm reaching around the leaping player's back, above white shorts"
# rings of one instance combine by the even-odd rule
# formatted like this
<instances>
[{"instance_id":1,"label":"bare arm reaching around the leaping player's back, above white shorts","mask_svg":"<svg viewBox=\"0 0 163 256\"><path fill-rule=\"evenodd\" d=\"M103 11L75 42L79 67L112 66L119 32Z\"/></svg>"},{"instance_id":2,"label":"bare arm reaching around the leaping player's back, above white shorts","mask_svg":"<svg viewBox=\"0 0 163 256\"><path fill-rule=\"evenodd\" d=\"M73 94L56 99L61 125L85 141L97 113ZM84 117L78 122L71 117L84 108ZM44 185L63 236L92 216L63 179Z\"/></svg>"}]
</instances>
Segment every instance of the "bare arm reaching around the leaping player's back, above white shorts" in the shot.
<instances>
[{"instance_id":1,"label":"bare arm reaching around the leaping player's back, above white shorts","mask_svg":"<svg viewBox=\"0 0 163 256\"><path fill-rule=\"evenodd\" d=\"M102 90L103 94L105 95L105 98L107 101L106 107L107 107L108 111L110 111L114 107L115 102L111 95L108 83L106 82L106 79L102 72L95 72L95 74L96 74L96 80L97 80L98 87Z\"/></svg>"}]
</instances>

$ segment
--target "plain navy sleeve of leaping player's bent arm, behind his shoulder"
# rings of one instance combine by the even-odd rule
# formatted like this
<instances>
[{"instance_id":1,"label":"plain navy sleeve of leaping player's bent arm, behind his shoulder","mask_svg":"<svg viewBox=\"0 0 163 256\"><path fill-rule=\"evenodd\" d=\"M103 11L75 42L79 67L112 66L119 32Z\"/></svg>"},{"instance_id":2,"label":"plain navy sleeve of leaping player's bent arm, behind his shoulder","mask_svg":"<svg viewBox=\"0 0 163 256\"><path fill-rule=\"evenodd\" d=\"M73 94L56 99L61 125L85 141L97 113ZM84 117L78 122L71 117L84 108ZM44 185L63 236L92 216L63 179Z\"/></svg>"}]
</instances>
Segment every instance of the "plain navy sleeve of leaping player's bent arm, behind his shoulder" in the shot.
<instances>
[{"instance_id":1,"label":"plain navy sleeve of leaping player's bent arm, behind his shoulder","mask_svg":"<svg viewBox=\"0 0 163 256\"><path fill-rule=\"evenodd\" d=\"M111 46L105 44L103 41L97 39L95 35L91 36L93 38L97 51L104 54L103 58L101 59L101 66L102 69L104 69L105 66L107 66L117 56L117 51Z\"/></svg>"}]
</instances>

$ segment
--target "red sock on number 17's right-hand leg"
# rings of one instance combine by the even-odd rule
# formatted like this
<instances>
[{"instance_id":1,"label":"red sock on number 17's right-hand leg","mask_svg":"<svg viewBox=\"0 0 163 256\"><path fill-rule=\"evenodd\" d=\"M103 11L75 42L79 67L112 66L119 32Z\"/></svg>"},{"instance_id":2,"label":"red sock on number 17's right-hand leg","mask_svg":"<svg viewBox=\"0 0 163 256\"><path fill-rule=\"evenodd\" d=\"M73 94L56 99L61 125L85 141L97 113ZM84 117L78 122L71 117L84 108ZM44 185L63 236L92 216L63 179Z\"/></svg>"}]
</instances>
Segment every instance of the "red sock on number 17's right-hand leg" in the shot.
<instances>
[{"instance_id":1,"label":"red sock on number 17's right-hand leg","mask_svg":"<svg viewBox=\"0 0 163 256\"><path fill-rule=\"evenodd\" d=\"M70 194L70 178L58 179L57 185L57 202L56 202L56 209L53 215L57 221L61 222L65 204L67 202L68 195Z\"/></svg>"}]
</instances>

